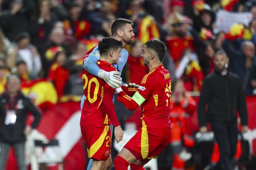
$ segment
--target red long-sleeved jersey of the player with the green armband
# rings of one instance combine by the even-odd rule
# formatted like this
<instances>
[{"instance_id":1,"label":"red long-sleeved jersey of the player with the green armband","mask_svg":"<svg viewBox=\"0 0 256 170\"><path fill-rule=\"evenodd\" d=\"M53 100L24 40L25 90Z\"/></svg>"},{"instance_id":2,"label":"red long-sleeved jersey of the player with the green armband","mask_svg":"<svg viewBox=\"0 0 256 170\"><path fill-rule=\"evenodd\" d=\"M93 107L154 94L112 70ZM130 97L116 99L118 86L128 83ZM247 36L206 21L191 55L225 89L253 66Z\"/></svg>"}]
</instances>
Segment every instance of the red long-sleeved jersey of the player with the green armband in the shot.
<instances>
[{"instance_id":1,"label":"red long-sleeved jersey of the player with the green armband","mask_svg":"<svg viewBox=\"0 0 256 170\"><path fill-rule=\"evenodd\" d=\"M142 126L151 128L171 127L170 122L170 98L171 76L163 65L153 68L146 74L137 89L137 92L146 99L142 105ZM128 109L136 109L137 102L121 91L118 101L124 103Z\"/></svg>"}]
</instances>

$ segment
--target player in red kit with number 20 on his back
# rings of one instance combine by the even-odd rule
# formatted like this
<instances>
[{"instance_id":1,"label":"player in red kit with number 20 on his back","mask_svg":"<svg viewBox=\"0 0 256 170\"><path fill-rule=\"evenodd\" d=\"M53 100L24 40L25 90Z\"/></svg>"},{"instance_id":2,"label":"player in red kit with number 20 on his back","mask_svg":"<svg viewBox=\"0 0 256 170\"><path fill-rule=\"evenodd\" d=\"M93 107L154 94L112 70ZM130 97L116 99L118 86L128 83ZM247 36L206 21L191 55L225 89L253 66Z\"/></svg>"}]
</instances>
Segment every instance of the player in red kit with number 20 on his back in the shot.
<instances>
[{"instance_id":1,"label":"player in red kit with number 20 on his back","mask_svg":"<svg viewBox=\"0 0 256 170\"><path fill-rule=\"evenodd\" d=\"M105 71L116 71L112 64L116 64L121 56L122 42L114 38L103 38L98 47L101 54L97 62L98 67ZM112 102L115 90L85 69L82 76L85 104L80 120L81 132L87 146L88 157L93 159L92 170L101 170L105 168L106 160L111 160L111 122L115 129L116 142L123 138L123 131Z\"/></svg>"}]
</instances>

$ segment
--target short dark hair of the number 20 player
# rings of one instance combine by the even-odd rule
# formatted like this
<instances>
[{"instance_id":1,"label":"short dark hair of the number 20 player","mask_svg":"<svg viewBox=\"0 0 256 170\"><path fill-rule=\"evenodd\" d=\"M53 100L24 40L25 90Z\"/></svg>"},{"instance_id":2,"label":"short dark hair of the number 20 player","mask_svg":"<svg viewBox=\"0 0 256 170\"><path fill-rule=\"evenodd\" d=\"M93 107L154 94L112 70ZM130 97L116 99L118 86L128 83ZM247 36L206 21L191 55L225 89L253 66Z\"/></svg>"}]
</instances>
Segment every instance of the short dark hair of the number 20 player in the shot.
<instances>
[{"instance_id":1,"label":"short dark hair of the number 20 player","mask_svg":"<svg viewBox=\"0 0 256 170\"><path fill-rule=\"evenodd\" d=\"M101 41L99 41L99 53L104 55L111 50L117 50L119 47L123 48L123 44L121 41L118 41L114 38L105 37Z\"/></svg>"}]
</instances>

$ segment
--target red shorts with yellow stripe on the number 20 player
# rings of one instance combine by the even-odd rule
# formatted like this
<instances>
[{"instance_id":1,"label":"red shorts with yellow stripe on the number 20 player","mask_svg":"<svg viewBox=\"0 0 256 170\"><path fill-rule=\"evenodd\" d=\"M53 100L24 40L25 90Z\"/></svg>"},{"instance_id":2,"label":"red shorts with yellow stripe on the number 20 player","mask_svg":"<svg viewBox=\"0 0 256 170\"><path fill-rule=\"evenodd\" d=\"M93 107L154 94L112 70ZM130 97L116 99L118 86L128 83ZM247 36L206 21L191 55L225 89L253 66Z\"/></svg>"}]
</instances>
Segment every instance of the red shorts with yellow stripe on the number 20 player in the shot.
<instances>
[{"instance_id":1,"label":"red shorts with yellow stripe on the number 20 player","mask_svg":"<svg viewBox=\"0 0 256 170\"><path fill-rule=\"evenodd\" d=\"M87 146L88 157L95 160L107 160L111 153L111 131L109 125L101 128L84 128L81 126L83 140Z\"/></svg>"}]
</instances>

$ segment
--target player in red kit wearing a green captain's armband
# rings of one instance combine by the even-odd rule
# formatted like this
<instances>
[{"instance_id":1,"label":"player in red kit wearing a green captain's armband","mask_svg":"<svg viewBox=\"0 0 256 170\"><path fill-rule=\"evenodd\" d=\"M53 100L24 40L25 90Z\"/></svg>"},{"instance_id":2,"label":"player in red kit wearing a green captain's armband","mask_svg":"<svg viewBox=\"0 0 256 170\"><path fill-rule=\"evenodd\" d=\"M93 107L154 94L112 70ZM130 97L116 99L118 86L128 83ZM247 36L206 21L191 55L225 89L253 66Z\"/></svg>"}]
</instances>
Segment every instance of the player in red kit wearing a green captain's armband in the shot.
<instances>
[{"instance_id":1,"label":"player in red kit wearing a green captain's armband","mask_svg":"<svg viewBox=\"0 0 256 170\"><path fill-rule=\"evenodd\" d=\"M116 89L117 100L128 109L134 110L141 105L142 127L116 156L115 170L127 170L129 164L132 170L144 170L144 164L155 159L170 142L171 77L162 64L165 53L163 42L148 41L141 57L150 71L142 79L139 88L132 97L121 88Z\"/></svg>"}]
</instances>

